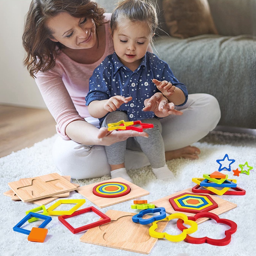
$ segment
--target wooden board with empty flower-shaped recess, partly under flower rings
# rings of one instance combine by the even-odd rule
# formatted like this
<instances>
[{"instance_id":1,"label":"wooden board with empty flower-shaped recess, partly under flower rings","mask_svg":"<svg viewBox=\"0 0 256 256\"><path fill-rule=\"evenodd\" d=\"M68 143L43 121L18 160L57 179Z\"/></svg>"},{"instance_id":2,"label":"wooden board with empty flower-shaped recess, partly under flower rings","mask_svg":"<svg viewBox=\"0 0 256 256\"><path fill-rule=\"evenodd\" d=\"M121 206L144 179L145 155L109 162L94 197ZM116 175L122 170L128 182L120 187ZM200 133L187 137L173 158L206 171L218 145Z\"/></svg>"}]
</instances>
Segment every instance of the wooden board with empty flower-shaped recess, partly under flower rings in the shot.
<instances>
[{"instance_id":1,"label":"wooden board with empty flower-shaped recess, partly under flower rings","mask_svg":"<svg viewBox=\"0 0 256 256\"><path fill-rule=\"evenodd\" d=\"M81 242L143 254L152 250L157 238L149 235L151 224L141 225L133 222L132 216L136 213L132 212L108 210L105 214L110 217L111 222L89 229L80 238ZM145 218L150 217L145 215ZM168 221L160 221L157 224L157 232L163 232Z\"/></svg>"}]
</instances>

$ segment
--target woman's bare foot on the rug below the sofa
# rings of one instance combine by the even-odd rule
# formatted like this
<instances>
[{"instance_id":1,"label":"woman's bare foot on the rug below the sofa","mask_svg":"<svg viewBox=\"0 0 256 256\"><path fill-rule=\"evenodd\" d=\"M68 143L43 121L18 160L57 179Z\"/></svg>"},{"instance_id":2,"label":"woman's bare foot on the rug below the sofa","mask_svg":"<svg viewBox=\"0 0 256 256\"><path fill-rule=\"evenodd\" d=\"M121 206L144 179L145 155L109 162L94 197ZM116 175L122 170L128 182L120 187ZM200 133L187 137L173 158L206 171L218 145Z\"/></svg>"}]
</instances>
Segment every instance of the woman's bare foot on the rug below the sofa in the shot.
<instances>
[{"instance_id":1,"label":"woman's bare foot on the rug below the sofa","mask_svg":"<svg viewBox=\"0 0 256 256\"><path fill-rule=\"evenodd\" d=\"M188 158L191 160L198 159L198 154L200 154L200 149L192 146L187 146L184 148L179 148L175 150L170 150L165 152L166 161L175 158Z\"/></svg>"}]
</instances>

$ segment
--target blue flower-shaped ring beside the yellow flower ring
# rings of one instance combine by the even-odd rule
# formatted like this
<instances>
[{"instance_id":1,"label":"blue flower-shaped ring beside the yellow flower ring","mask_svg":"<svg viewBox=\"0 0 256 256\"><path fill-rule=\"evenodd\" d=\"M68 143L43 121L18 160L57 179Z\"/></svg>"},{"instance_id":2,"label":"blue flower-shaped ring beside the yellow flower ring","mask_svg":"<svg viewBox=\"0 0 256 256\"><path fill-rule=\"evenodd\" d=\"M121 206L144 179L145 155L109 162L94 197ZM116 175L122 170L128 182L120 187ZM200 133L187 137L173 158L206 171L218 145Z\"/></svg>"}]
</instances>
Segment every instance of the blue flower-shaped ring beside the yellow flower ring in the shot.
<instances>
[{"instance_id":1,"label":"blue flower-shaped ring beside the yellow flower ring","mask_svg":"<svg viewBox=\"0 0 256 256\"><path fill-rule=\"evenodd\" d=\"M160 214L157 216L152 216L149 219L142 219L143 215L145 215L147 213L156 213L156 212L160 212ZM140 222L140 224L142 224L142 225L147 225L156 220L163 220L164 218L166 218L165 208L158 207L158 208L150 208L150 209L145 209L145 210L140 211L138 214L132 216L132 221L135 223Z\"/></svg>"}]
</instances>

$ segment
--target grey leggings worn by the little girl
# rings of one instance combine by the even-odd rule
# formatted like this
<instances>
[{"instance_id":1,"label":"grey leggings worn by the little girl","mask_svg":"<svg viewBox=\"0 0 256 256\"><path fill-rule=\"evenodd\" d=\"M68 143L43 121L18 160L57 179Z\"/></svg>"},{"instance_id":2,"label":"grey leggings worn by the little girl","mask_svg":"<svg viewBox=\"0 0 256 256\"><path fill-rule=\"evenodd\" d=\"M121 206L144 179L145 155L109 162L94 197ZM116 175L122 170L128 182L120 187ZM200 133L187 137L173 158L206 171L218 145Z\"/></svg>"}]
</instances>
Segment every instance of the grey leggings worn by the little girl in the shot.
<instances>
[{"instance_id":1,"label":"grey leggings worn by the little girl","mask_svg":"<svg viewBox=\"0 0 256 256\"><path fill-rule=\"evenodd\" d=\"M102 127L108 127L109 123L116 123L120 120L129 121L126 113L123 111L110 112L102 123ZM125 141L116 142L110 146L105 146L107 153L108 164L124 163L125 149L143 151L148 157L152 168L163 167L165 164L164 155L164 140L162 138L162 125L158 119L143 119L142 123L154 124L154 128L145 129L148 133L148 138L145 137L130 137ZM122 132L122 131L120 131Z\"/></svg>"}]
</instances>

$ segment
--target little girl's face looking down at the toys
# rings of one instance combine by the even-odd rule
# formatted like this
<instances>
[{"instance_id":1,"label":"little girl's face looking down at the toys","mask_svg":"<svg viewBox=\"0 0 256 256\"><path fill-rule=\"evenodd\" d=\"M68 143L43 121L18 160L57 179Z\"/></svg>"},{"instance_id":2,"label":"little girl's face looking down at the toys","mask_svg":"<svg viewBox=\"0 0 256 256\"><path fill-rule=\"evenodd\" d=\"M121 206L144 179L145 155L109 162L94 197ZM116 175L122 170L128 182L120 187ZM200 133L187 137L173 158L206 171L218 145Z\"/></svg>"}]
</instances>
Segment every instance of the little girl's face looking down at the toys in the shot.
<instances>
[{"instance_id":1,"label":"little girl's face looking down at the toys","mask_svg":"<svg viewBox=\"0 0 256 256\"><path fill-rule=\"evenodd\" d=\"M147 22L122 19L113 31L114 49L120 61L132 71L139 67L153 35Z\"/></svg>"}]
</instances>

